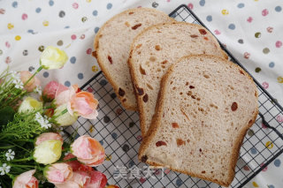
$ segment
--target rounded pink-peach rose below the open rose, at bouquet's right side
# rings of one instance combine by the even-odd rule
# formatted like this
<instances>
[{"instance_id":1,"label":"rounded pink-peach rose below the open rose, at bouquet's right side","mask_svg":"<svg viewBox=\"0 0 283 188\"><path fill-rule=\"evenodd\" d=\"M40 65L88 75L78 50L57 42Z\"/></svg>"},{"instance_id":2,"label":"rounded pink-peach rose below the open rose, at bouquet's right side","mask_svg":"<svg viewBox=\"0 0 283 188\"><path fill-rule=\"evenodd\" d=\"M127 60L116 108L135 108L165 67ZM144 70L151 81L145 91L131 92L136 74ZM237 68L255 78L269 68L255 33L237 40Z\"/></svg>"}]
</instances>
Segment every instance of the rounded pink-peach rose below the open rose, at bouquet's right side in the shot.
<instances>
[{"instance_id":1,"label":"rounded pink-peach rose below the open rose, at bouquet's right side","mask_svg":"<svg viewBox=\"0 0 283 188\"><path fill-rule=\"evenodd\" d=\"M79 162L91 167L102 164L105 159L103 146L96 139L87 135L76 139L71 145L71 150Z\"/></svg>"}]
</instances>

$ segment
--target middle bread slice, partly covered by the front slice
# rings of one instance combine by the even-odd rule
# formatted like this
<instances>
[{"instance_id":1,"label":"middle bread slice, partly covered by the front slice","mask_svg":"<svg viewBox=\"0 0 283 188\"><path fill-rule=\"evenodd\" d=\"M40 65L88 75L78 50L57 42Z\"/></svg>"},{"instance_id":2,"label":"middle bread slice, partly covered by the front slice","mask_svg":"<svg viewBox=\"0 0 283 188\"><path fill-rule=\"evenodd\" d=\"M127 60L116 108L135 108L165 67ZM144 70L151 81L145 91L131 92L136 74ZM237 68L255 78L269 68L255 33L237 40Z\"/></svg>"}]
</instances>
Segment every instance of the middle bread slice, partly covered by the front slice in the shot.
<instances>
[{"instance_id":1,"label":"middle bread slice, partly covered by the front slice","mask_svg":"<svg viewBox=\"0 0 283 188\"><path fill-rule=\"evenodd\" d=\"M150 26L134 39L128 64L143 137L149 130L156 108L161 78L170 65L190 54L226 57L213 35L196 24L177 22Z\"/></svg>"}]
</instances>

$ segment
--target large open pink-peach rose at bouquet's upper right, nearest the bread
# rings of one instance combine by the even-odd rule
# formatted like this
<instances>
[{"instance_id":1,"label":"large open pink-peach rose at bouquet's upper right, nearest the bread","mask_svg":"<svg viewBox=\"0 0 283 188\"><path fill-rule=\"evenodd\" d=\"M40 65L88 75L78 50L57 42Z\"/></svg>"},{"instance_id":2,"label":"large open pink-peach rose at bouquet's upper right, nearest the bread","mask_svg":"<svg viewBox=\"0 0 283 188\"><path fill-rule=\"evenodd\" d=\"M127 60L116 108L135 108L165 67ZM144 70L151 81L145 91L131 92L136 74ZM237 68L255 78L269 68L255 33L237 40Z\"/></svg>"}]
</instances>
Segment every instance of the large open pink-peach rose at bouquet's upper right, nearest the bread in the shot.
<instances>
[{"instance_id":1,"label":"large open pink-peach rose at bouquet's upper right, nearest the bread","mask_svg":"<svg viewBox=\"0 0 283 188\"><path fill-rule=\"evenodd\" d=\"M96 119L98 101L95 96L88 92L77 92L77 85L71 86L55 97L55 104L60 106L67 103L68 112L87 119Z\"/></svg>"}]
</instances>

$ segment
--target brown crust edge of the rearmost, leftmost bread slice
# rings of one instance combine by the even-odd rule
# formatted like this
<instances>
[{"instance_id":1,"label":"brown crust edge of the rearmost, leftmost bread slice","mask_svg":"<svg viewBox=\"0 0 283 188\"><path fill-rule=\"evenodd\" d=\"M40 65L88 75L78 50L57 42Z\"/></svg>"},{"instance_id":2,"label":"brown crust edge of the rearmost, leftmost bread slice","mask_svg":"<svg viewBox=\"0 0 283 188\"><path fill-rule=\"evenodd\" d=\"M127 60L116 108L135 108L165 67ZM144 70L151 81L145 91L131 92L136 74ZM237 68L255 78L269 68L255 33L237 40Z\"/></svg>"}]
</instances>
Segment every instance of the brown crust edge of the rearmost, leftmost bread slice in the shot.
<instances>
[{"instance_id":1,"label":"brown crust edge of the rearmost, leftmost bread slice","mask_svg":"<svg viewBox=\"0 0 283 188\"><path fill-rule=\"evenodd\" d=\"M115 82L115 80L112 79L110 71L107 69L105 64L103 64L103 58L102 58L102 56L100 56L100 53L99 53L99 38L100 38L99 36L102 34L103 29L105 28L105 26L107 26L107 24L109 24L112 20L117 19L119 16L124 15L124 14L126 14L126 13L128 13L130 11L140 11L140 10L154 11L154 12L158 12L158 13L164 14L164 16L168 17L168 15L165 14L163 11L157 11L156 9L151 9L151 8L133 8L133 9L128 9L126 11L120 12L119 14L115 15L111 19L107 20L103 24L103 26L99 29L98 33L96 34L95 41L94 41L94 48L96 50L96 60L97 60L97 63L99 64L101 70L103 71L103 74L104 74L105 78L111 83L111 86L113 87L114 92L118 96L118 98L119 98L120 102L122 103L123 107L125 109L130 109L130 110L134 110L134 111L138 109L137 103L131 104L128 101L123 102L124 98L119 95L119 86L118 86L118 84ZM170 19L172 19L172 18L170 18ZM172 21L174 21L174 20L175 19L172 19Z\"/></svg>"}]
</instances>

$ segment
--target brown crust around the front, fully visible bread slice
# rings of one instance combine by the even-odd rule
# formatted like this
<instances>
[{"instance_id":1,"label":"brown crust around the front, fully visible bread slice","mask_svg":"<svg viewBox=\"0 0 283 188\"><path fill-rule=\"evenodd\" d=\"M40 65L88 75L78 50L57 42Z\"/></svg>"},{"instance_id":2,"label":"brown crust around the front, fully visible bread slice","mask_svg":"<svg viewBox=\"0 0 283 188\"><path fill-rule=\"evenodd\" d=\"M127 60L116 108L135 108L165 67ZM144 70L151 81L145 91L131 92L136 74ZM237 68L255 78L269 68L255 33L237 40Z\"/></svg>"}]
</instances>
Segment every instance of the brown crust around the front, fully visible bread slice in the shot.
<instances>
[{"instance_id":1,"label":"brown crust around the front, fully visible bread slice","mask_svg":"<svg viewBox=\"0 0 283 188\"><path fill-rule=\"evenodd\" d=\"M255 85L253 79L249 76L249 74L246 71L241 69L241 67L238 66L237 64L233 64L232 62L226 60L225 58L221 58L221 57L218 57L218 56L210 56L210 55L191 55L191 56L192 57L193 56L205 56L205 57L216 58L217 60L220 58L220 59L222 59L222 61L226 62L227 64L230 64L233 67L235 67L236 69L238 69L239 71L242 71L244 73L244 75L252 81L253 86L255 87L255 91L256 91L256 100L258 100L257 89L256 89L256 85ZM180 60L178 60L178 62L176 64L180 63L183 59L189 58L191 56L184 56L184 57L180 58ZM145 138L143 138L142 145L139 149L139 160L140 161L142 161L142 156L144 155L146 148L149 147L150 140L153 139L153 137L157 133L158 128L161 125L160 124L161 118L162 118L162 114L161 114L162 111L161 110L163 109L163 106L164 106L164 94L167 90L166 82L167 82L167 79L169 79L169 76L172 74L172 71L174 69L174 66L176 66L176 64L172 64L172 66L169 68L167 73L164 74L164 77L161 81L161 86L160 86L160 90L159 90L159 93L158 93L158 100L157 100L157 107L156 107L155 116L152 118L152 122L151 122L151 125L149 127L148 135ZM172 167L169 167L169 169L172 169L174 171L178 171L180 173L187 174L187 175L192 176L192 177L199 177L199 178L202 178L202 179L205 179L205 180L208 180L210 182L214 182L216 184L220 184L220 185L223 185L223 186L229 186L233 182L234 169L235 169L236 163L238 161L238 157L239 157L239 153L240 153L240 149L241 149L241 144L242 144L243 139L244 139L246 133L248 132L249 128L255 123L257 114L258 114L258 105L257 105L257 108L256 108L254 114L253 114L252 121L249 124L246 124L246 126L241 129L241 132L239 133L239 136L235 141L235 145L233 145L233 151L235 151L235 152L231 156L231 160L229 162L230 168L229 168L229 171L228 171L228 177L229 177L228 181L219 181L218 179L211 179L211 178L204 177L202 175L198 175L198 174L195 174L195 173L192 173L192 172L182 171L180 169L173 169ZM153 165L153 166L163 166L163 164L160 164L160 163L157 163L157 162L150 162L149 160L146 163L148 163L149 165Z\"/></svg>"}]
</instances>

